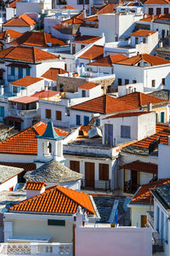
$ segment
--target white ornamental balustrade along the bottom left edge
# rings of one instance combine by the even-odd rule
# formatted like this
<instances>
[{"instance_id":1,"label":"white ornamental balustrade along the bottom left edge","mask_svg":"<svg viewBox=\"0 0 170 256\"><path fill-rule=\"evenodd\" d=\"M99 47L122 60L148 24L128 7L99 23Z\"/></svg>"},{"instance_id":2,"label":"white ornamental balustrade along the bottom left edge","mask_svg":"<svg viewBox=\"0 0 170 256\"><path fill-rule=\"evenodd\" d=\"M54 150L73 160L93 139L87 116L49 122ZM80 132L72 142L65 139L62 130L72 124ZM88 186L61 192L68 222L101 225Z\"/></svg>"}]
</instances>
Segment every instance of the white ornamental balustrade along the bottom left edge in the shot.
<instances>
[{"instance_id":1,"label":"white ornamental balustrade along the bottom left edge","mask_svg":"<svg viewBox=\"0 0 170 256\"><path fill-rule=\"evenodd\" d=\"M72 255L71 243L1 243L0 255Z\"/></svg>"}]
</instances>

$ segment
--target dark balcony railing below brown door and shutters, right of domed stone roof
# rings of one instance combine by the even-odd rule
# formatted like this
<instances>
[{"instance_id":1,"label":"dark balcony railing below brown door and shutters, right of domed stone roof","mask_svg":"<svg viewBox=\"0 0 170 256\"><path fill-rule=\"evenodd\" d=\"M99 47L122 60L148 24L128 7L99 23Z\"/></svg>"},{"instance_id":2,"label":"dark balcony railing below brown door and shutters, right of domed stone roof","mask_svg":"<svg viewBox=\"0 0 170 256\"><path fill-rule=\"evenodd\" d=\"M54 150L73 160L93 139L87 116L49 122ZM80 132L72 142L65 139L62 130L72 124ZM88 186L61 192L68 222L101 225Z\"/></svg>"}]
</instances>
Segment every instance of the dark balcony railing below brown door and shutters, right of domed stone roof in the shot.
<instances>
[{"instance_id":1,"label":"dark balcony railing below brown door and shutters, right of domed stone roof","mask_svg":"<svg viewBox=\"0 0 170 256\"><path fill-rule=\"evenodd\" d=\"M102 189L102 190L111 190L111 180L86 180L82 179L81 184L82 189Z\"/></svg>"}]
</instances>

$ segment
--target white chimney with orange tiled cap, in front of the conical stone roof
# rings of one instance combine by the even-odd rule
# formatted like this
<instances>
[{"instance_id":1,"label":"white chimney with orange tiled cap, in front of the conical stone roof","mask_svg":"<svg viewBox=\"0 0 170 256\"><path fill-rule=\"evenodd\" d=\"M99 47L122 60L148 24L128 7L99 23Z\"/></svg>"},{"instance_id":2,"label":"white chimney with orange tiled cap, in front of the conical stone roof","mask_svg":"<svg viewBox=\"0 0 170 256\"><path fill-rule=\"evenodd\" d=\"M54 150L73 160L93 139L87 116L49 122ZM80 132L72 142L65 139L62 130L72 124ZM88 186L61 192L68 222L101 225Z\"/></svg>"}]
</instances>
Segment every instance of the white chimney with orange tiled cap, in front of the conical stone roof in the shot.
<instances>
[{"instance_id":1,"label":"white chimney with orange tiled cap, in front of the conical stone roof","mask_svg":"<svg viewBox=\"0 0 170 256\"><path fill-rule=\"evenodd\" d=\"M27 181L26 182L26 199L29 199L35 195L40 195L45 192L46 183L36 182L36 181Z\"/></svg>"}]
</instances>

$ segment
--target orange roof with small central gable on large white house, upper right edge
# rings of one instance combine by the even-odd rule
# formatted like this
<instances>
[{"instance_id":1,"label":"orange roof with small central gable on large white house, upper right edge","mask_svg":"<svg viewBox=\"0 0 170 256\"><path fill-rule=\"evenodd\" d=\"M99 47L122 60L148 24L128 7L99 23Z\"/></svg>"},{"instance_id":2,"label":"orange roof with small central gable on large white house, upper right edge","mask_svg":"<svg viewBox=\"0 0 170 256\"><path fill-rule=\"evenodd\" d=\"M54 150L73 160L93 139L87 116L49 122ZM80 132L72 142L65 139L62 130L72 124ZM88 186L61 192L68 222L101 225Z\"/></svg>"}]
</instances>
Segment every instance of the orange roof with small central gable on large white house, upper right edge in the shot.
<instances>
[{"instance_id":1,"label":"orange roof with small central gable on large white house, upper right edge","mask_svg":"<svg viewBox=\"0 0 170 256\"><path fill-rule=\"evenodd\" d=\"M124 61L117 61L116 64L136 66L140 61L145 61L150 64L150 66L170 64L170 61L166 59L148 54L136 55Z\"/></svg>"}]
</instances>

